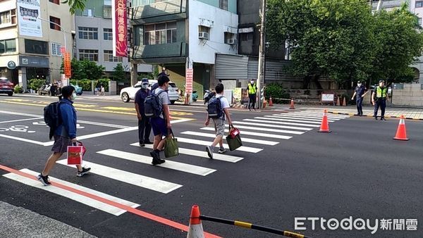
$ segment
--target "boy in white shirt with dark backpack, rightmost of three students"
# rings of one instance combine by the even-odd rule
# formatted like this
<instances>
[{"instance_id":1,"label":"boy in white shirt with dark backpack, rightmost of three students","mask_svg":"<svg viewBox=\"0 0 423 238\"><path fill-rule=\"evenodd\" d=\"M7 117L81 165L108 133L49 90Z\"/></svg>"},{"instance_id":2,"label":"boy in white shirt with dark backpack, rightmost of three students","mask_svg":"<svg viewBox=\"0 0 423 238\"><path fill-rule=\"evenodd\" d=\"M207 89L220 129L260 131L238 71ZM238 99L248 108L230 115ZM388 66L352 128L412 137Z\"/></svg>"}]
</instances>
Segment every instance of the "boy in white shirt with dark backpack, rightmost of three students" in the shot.
<instances>
[{"instance_id":1,"label":"boy in white shirt with dark backpack, rightmost of three students","mask_svg":"<svg viewBox=\"0 0 423 238\"><path fill-rule=\"evenodd\" d=\"M214 147L219 144L219 153L225 153L226 149L223 147L223 134L225 134L225 118L227 118L229 127L232 125L231 115L229 115L228 100L222 95L223 94L223 84L217 84L216 94L209 99L207 105L207 119L204 125L209 125L210 118L212 118L214 123L214 130L216 131L216 138L214 139L212 145L206 146L206 151L209 158L213 158Z\"/></svg>"}]
</instances>

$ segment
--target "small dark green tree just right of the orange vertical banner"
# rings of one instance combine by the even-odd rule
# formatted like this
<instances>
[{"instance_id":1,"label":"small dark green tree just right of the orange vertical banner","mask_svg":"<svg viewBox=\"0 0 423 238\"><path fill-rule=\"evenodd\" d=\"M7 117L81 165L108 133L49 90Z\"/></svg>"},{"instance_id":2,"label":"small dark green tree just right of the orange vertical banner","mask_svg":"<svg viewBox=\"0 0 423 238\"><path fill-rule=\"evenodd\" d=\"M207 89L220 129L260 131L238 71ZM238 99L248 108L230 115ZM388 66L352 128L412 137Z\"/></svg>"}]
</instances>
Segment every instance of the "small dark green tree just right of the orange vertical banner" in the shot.
<instances>
[{"instance_id":1,"label":"small dark green tree just right of the orange vertical banner","mask_svg":"<svg viewBox=\"0 0 423 238\"><path fill-rule=\"evenodd\" d=\"M72 79L74 80L98 80L102 78L104 66L97 65L94 61L77 61L75 58L71 61Z\"/></svg>"}]
</instances>

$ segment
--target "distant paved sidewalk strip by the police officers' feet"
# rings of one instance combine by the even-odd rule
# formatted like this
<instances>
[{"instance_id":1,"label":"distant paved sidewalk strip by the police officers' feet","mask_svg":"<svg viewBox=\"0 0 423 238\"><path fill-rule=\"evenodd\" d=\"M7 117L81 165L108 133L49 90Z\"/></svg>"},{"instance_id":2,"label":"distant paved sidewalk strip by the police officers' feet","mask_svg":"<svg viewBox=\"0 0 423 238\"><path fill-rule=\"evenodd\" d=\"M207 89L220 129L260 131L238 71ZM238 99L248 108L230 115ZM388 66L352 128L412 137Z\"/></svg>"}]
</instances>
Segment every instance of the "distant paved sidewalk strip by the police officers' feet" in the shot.
<instances>
[{"instance_id":1,"label":"distant paved sidewalk strip by the police officers' feet","mask_svg":"<svg viewBox=\"0 0 423 238\"><path fill-rule=\"evenodd\" d=\"M286 111L289 108L288 104L278 104L274 107L274 110L283 110ZM346 115L355 115L357 114L357 108L355 105L351 106L307 106L307 105L295 105L296 110L314 110L314 111L323 111L327 109L328 113L333 114L346 114ZM363 106L363 113L366 116L373 116L373 106ZM380 115L380 109L378 115ZM406 119L412 120L423 120L423 108L400 108L400 107L391 107L387 106L385 111L386 118L399 118L400 115L404 115Z\"/></svg>"}]
</instances>

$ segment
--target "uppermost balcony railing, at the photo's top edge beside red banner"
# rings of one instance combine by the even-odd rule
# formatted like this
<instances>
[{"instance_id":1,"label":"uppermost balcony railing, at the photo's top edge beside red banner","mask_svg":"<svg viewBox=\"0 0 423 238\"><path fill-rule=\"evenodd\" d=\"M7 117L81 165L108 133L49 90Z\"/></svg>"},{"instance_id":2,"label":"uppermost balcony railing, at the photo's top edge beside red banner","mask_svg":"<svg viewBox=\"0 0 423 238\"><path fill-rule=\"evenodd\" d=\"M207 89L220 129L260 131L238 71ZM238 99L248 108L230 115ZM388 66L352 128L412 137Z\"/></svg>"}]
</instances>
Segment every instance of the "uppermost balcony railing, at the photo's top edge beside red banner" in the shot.
<instances>
[{"instance_id":1,"label":"uppermost balcony railing, at the photo's top edge beside red banner","mask_svg":"<svg viewBox=\"0 0 423 238\"><path fill-rule=\"evenodd\" d=\"M185 13L187 0L134 0L132 4L132 20L151 18L160 15Z\"/></svg>"}]
</instances>

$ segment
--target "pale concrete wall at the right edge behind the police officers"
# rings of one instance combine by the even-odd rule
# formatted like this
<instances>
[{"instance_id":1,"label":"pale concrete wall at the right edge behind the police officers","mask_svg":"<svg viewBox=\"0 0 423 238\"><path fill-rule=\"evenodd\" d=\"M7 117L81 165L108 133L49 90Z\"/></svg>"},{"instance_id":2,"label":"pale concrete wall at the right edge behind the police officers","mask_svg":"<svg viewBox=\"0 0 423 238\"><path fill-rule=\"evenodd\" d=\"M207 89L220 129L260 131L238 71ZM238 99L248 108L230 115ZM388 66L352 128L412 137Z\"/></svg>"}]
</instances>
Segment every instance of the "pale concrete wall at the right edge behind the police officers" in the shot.
<instances>
[{"instance_id":1,"label":"pale concrete wall at the right edge behind the police officers","mask_svg":"<svg viewBox=\"0 0 423 238\"><path fill-rule=\"evenodd\" d=\"M423 106L422 84L404 84L404 89L393 89L392 104L396 106Z\"/></svg>"}]
</instances>

